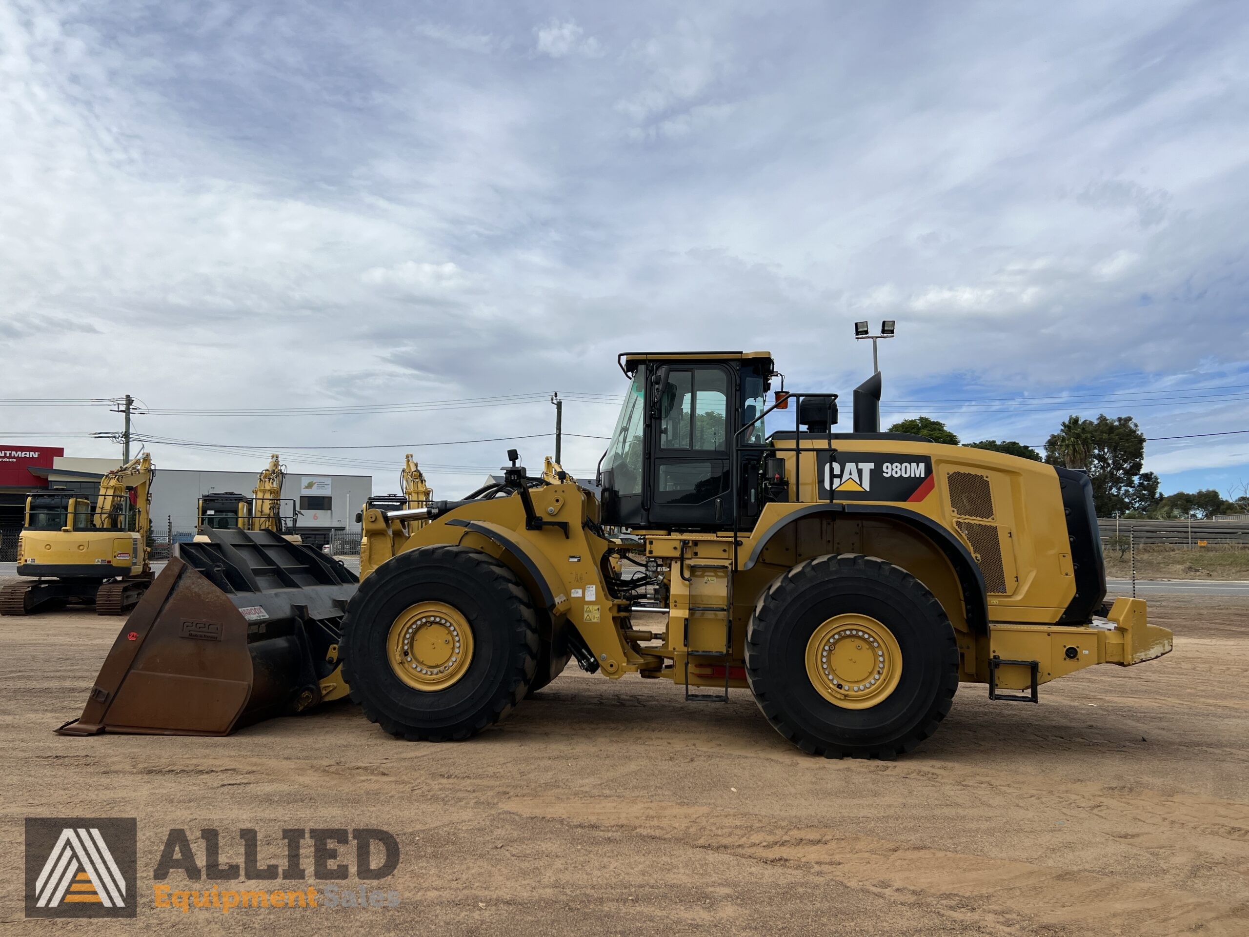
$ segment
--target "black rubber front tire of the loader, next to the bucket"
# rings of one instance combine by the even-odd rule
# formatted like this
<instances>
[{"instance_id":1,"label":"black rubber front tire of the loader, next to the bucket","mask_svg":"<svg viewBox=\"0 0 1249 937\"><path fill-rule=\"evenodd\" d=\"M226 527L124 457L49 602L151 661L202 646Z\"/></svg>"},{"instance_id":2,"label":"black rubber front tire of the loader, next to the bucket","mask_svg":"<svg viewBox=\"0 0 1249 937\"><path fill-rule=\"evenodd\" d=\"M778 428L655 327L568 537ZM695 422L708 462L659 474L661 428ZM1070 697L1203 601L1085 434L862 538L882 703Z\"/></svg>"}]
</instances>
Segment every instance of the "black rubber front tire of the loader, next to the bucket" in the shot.
<instances>
[{"instance_id":1,"label":"black rubber front tire of the loader, next to the bucket","mask_svg":"<svg viewBox=\"0 0 1249 937\"><path fill-rule=\"evenodd\" d=\"M436 671L401 678L392 663L392 626L428 606L452 610L448 617L471 630L470 660L442 683ZM347 606L342 647L343 678L370 721L408 740L463 740L525 697L538 625L528 593L503 563L480 550L436 545L400 553L363 581Z\"/></svg>"}]
</instances>

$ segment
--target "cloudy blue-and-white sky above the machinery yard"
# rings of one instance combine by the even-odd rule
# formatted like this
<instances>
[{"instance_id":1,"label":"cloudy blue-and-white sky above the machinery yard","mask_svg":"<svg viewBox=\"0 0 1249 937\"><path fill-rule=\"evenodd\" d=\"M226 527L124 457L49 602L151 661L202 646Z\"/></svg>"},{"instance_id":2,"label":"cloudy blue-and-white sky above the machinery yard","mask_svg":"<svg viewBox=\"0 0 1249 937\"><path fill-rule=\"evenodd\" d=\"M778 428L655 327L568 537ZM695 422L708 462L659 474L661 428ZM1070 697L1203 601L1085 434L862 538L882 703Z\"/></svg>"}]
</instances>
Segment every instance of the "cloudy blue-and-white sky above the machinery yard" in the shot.
<instances>
[{"instance_id":1,"label":"cloudy blue-and-white sky above the machinery yard","mask_svg":"<svg viewBox=\"0 0 1249 937\"><path fill-rule=\"evenodd\" d=\"M131 394L157 466L456 497L553 391L592 475L621 351L848 400L894 319L887 420L1128 414L1227 491L1249 432L1164 437L1249 431L1245 49L1240 2L0 0L0 442L116 455L80 401Z\"/></svg>"}]
</instances>

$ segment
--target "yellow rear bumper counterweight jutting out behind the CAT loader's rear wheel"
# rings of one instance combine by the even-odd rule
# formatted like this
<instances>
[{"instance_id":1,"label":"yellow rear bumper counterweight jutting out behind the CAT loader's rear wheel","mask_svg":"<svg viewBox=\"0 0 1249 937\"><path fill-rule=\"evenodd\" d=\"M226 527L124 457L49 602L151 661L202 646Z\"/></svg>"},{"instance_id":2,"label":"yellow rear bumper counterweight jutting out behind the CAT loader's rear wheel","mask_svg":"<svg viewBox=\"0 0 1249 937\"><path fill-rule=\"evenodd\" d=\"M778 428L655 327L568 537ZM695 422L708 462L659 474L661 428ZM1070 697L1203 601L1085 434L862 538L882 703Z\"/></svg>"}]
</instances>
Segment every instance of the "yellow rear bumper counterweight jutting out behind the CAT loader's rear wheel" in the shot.
<instances>
[{"instance_id":1,"label":"yellow rear bumper counterweight jutting out behind the CAT loader's rear wheel","mask_svg":"<svg viewBox=\"0 0 1249 937\"><path fill-rule=\"evenodd\" d=\"M1095 663L1133 663L1162 657L1172 650L1172 632L1147 620L1142 598L1118 598L1104 625L993 625L989 656L1002 661L1037 661L1037 682L1045 683ZM997 685L1007 690L1032 686L1030 667L998 666Z\"/></svg>"}]
</instances>

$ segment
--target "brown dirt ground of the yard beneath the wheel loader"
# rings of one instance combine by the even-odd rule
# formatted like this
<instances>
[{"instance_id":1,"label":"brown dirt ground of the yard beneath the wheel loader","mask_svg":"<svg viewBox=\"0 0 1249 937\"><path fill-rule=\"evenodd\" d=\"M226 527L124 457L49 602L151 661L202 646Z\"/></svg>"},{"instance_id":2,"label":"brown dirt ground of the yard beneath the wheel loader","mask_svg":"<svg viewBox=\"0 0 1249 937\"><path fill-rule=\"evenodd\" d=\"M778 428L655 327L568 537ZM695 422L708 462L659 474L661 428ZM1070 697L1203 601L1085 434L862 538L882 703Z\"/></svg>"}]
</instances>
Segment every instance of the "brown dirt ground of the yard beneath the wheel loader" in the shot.
<instances>
[{"instance_id":1,"label":"brown dirt ground of the yard beneath the wheel loader","mask_svg":"<svg viewBox=\"0 0 1249 937\"><path fill-rule=\"evenodd\" d=\"M1249 933L1249 600L1152 613L1169 657L1040 706L964 686L891 763L803 755L747 691L696 705L576 670L466 743L392 740L350 703L230 738L62 738L117 621L0 618L0 933L135 923L25 921L26 816L137 816L139 923L162 931ZM224 861L254 827L261 863L284 827L386 828L400 906L155 908L170 827L201 861L201 827Z\"/></svg>"}]
</instances>

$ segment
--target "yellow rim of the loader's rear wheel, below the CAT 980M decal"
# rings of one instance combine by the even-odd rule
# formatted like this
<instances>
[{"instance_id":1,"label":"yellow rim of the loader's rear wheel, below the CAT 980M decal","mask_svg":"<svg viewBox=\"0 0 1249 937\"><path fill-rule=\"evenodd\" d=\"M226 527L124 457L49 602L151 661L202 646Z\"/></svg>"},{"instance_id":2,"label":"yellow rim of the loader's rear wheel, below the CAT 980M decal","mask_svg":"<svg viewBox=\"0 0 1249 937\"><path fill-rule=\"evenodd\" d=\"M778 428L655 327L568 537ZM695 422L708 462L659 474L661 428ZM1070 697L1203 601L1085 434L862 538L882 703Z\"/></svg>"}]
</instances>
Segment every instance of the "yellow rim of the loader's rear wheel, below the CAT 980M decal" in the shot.
<instances>
[{"instance_id":1,"label":"yellow rim of the loader's rear wheel, below the CAT 980M decal","mask_svg":"<svg viewBox=\"0 0 1249 937\"><path fill-rule=\"evenodd\" d=\"M807 677L846 710L884 702L902 677L902 648L884 625L866 615L829 618L807 642Z\"/></svg>"}]
</instances>

